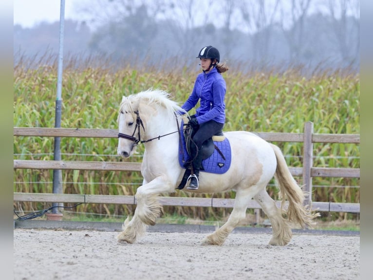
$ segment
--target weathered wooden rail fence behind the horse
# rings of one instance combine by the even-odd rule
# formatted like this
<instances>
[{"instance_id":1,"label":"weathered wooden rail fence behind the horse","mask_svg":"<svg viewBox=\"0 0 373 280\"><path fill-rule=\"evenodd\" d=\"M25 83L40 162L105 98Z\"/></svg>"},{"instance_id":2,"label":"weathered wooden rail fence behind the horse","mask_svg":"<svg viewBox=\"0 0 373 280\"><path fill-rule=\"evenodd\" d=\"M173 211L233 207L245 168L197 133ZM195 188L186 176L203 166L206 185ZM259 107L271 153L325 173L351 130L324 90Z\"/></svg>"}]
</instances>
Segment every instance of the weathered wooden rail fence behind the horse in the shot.
<instances>
[{"instance_id":1,"label":"weathered wooden rail fence behind the horse","mask_svg":"<svg viewBox=\"0 0 373 280\"><path fill-rule=\"evenodd\" d=\"M117 138L113 129L73 129L73 128L30 128L14 127L14 136L29 137L93 137ZM324 168L313 167L313 143L360 143L358 134L314 134L313 123L306 122L304 133L256 133L262 139L278 142L303 142L303 167L289 167L293 176L302 176L302 188L306 192L305 204L311 203L312 177L359 178L359 168ZM104 162L104 161L65 161L65 160L14 160L14 169L74 169L74 170L112 170L140 171L139 162ZM84 194L44 194L14 193L14 201L44 202L83 202L136 204L134 196L84 195ZM217 198L180 198L161 197L162 205L199 206L199 207L233 207L234 199ZM280 201L277 201L280 205ZM248 208L260 209L252 200ZM318 211L360 213L360 203L337 203L312 201L312 208Z\"/></svg>"}]
</instances>

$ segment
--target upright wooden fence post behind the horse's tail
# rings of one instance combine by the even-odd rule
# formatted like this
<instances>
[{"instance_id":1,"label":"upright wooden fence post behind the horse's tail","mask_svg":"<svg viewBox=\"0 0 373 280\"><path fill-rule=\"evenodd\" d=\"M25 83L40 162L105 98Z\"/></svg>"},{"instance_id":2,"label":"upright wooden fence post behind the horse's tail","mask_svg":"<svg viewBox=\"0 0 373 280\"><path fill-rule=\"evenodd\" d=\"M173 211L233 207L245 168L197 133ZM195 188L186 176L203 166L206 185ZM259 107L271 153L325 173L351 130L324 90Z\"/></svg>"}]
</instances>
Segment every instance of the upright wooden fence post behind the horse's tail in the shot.
<instances>
[{"instance_id":1,"label":"upright wooden fence post behind the horse's tail","mask_svg":"<svg viewBox=\"0 0 373 280\"><path fill-rule=\"evenodd\" d=\"M311 205L312 200L312 177L311 168L313 165L313 150L312 134L314 133L314 124L307 121L304 124L303 133L303 184L302 190L305 192L304 205Z\"/></svg>"}]
</instances>

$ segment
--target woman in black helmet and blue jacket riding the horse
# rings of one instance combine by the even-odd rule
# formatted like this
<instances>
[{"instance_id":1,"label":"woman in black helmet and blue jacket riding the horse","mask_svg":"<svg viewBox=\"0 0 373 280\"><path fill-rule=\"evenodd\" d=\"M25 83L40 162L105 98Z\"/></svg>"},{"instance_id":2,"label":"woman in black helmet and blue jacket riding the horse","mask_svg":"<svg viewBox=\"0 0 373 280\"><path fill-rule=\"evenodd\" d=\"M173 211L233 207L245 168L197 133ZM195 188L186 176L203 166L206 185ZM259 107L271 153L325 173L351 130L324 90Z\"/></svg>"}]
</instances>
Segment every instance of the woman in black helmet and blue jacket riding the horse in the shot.
<instances>
[{"instance_id":1,"label":"woman in black helmet and blue jacket riding the horse","mask_svg":"<svg viewBox=\"0 0 373 280\"><path fill-rule=\"evenodd\" d=\"M189 125L195 134L191 144L192 175L187 189L198 189L198 177L202 164L202 143L213 135L221 132L225 122L225 80L220 73L229 68L224 63L219 64L220 54L217 48L206 46L198 53L203 73L199 74L194 88L182 108L189 111L200 100L200 107L191 116Z\"/></svg>"}]
</instances>

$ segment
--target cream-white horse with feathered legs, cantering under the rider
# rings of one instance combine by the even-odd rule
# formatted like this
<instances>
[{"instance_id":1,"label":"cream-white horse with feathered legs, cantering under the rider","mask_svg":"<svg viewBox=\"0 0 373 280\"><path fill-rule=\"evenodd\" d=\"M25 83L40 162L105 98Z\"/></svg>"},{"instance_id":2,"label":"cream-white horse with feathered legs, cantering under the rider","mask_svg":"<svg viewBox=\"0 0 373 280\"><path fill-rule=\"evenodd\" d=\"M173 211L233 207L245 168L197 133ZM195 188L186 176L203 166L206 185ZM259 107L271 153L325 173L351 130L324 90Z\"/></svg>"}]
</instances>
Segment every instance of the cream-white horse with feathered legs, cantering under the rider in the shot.
<instances>
[{"instance_id":1,"label":"cream-white horse with feathered legs, cantering under the rider","mask_svg":"<svg viewBox=\"0 0 373 280\"><path fill-rule=\"evenodd\" d=\"M118 242L135 243L155 225L162 211L160 194L176 191L185 169L178 163L180 130L187 113L171 100L167 91L148 89L123 96L118 111L117 153L128 158L138 144L145 145L141 174L143 183L137 188L137 205L132 219L124 221ZM179 133L178 133L179 132ZM303 205L304 193L291 175L280 148L247 131L224 132L231 146L232 162L224 174L201 171L196 193L236 192L234 207L228 220L202 240L203 245L222 245L228 235L245 218L250 200L255 199L270 220L270 245L286 245L292 239L292 225L312 227L319 216ZM275 177L279 186L280 207L266 191ZM287 203L285 203L287 200ZM287 204L287 207L286 205ZM286 209L287 208L287 209Z\"/></svg>"}]
</instances>

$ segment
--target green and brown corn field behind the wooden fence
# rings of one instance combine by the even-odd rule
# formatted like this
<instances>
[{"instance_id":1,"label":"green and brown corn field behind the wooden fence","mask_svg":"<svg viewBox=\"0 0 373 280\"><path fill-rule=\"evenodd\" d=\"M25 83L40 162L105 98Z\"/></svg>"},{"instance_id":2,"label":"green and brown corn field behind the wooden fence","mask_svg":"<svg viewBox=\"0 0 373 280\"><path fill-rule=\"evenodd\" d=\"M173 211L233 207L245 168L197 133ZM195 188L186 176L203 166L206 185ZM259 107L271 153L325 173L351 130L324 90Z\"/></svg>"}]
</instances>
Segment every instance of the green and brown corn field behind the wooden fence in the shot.
<instances>
[{"instance_id":1,"label":"green and brown corn field behind the wooden fence","mask_svg":"<svg viewBox=\"0 0 373 280\"><path fill-rule=\"evenodd\" d=\"M114 69L105 63L64 62L62 81L62 120L64 128L117 129L117 113L123 95L149 88L168 91L182 104L190 94L196 75L186 67L158 69L124 65ZM93 61L97 62L97 61ZM33 67L30 65L33 64ZM85 65L85 66L82 66ZM54 127L57 84L56 63L19 60L14 67L14 126ZM95 65L90 66L90 65ZM359 134L359 76L344 71L320 71L304 77L299 69L283 73L242 73L232 65L223 74L227 84L224 131L302 133L304 123L314 123L314 133ZM189 112L193 113L193 111ZM287 163L302 166L302 143L276 142ZM116 139L61 138L62 160L123 161L116 155ZM53 160L54 139L14 137L14 159ZM141 161L139 154L128 161ZM356 144L314 144L315 167L359 168L360 150ZM141 185L138 172L62 170L63 192L67 194L134 195ZM301 178L295 178L301 183ZM14 192L52 193L53 170L16 169ZM341 187L346 186L346 187ZM271 181L268 192L278 199ZM171 196L211 197L177 191ZM359 202L357 178L314 178L313 201ZM234 198L234 192L215 194ZM65 203L66 206L73 204ZM15 202L20 211L50 207L46 202ZM220 208L165 206L165 213L197 219L224 219L230 212ZM133 205L82 204L77 212L106 216L131 215ZM248 210L250 211L250 210ZM352 219L348 213L326 213L324 219Z\"/></svg>"}]
</instances>

